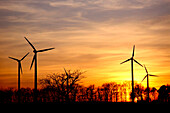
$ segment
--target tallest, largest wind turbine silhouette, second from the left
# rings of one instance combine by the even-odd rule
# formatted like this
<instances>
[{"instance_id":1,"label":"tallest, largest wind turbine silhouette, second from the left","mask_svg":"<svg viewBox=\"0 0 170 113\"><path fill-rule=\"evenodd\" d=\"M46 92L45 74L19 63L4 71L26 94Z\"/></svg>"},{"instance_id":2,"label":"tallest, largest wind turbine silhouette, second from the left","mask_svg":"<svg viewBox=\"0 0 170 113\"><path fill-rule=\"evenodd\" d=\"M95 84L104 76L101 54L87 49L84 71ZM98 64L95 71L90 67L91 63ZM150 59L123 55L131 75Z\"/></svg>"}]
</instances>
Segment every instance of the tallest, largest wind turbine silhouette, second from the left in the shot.
<instances>
[{"instance_id":1,"label":"tallest, largest wind turbine silhouette, second from the left","mask_svg":"<svg viewBox=\"0 0 170 113\"><path fill-rule=\"evenodd\" d=\"M31 44L31 42L26 37L24 37L24 38L30 44L30 46L33 48L33 52L34 52L32 63L31 63L31 66L30 66L30 70L31 70L32 65L34 63L34 66L35 66L35 70L34 70L35 71L35 73L34 73L35 74L35 78L34 78L34 80L35 80L34 81L34 102L37 102L37 53L52 50L54 48L36 50L35 47Z\"/></svg>"}]
</instances>

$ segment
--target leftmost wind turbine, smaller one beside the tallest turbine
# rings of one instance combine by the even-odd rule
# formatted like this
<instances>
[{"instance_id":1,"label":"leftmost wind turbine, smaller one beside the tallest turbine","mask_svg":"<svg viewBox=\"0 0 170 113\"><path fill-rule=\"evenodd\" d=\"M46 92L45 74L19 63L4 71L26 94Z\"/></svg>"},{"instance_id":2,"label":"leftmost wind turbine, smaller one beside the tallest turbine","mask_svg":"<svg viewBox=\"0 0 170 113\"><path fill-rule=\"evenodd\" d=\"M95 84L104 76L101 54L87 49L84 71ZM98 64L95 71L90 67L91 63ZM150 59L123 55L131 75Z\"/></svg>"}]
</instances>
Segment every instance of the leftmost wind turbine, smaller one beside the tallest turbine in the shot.
<instances>
[{"instance_id":1,"label":"leftmost wind turbine, smaller one beside the tallest turbine","mask_svg":"<svg viewBox=\"0 0 170 113\"><path fill-rule=\"evenodd\" d=\"M22 57L21 60L19 59L16 59L16 58L13 58L13 57L9 57L10 59L12 60L15 60L18 62L18 102L20 103L20 72L22 72L22 66L21 66L21 61L24 60L24 58L29 54L29 52L24 56Z\"/></svg>"}]
</instances>

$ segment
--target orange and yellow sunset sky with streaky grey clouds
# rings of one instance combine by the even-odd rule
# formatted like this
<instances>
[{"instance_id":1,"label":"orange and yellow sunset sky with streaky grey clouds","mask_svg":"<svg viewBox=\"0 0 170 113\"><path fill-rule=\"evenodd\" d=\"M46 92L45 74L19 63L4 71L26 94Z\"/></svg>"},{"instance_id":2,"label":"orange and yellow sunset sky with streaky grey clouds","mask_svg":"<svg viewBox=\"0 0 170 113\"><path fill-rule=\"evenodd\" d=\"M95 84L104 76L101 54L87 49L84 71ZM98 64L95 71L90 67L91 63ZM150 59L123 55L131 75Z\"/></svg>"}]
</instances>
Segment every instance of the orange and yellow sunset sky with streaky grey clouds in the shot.
<instances>
[{"instance_id":1,"label":"orange and yellow sunset sky with streaky grey clouds","mask_svg":"<svg viewBox=\"0 0 170 113\"><path fill-rule=\"evenodd\" d=\"M85 86L131 80L130 62L120 63L136 45L135 59L159 76L150 87L170 83L170 0L0 0L0 88L17 88L17 62L8 57L27 52L21 87L34 86L24 36L37 49L55 48L38 54L38 80L63 67L86 71ZM134 64L138 83L145 75Z\"/></svg>"}]
</instances>

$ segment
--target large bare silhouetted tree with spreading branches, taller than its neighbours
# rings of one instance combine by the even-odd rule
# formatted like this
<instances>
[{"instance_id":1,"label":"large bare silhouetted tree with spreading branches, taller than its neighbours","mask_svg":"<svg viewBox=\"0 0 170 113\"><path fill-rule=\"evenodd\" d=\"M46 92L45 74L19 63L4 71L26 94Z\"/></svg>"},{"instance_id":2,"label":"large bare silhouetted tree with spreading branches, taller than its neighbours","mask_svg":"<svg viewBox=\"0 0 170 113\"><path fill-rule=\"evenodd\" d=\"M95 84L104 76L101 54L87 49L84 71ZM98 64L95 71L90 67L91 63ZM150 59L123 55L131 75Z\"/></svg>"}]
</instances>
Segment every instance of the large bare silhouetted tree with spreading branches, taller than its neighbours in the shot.
<instances>
[{"instance_id":1,"label":"large bare silhouetted tree with spreading branches, taller than its neighbours","mask_svg":"<svg viewBox=\"0 0 170 113\"><path fill-rule=\"evenodd\" d=\"M52 74L48 75L47 78L41 79L40 84L43 88L50 91L49 96L55 98L57 96L58 101L70 101L76 98L78 81L83 77L81 76L84 72L76 70L62 74ZM68 74L68 75L67 75Z\"/></svg>"}]
</instances>

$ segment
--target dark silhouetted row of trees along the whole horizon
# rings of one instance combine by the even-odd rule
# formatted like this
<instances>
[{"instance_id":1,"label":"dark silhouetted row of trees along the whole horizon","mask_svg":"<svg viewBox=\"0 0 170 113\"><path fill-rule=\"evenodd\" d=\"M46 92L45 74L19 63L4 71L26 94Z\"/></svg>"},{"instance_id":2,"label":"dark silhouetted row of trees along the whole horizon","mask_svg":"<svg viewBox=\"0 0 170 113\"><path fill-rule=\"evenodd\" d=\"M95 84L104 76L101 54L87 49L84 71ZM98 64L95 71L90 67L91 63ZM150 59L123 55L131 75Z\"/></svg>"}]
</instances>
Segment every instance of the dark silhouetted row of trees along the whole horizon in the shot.
<instances>
[{"instance_id":1,"label":"dark silhouetted row of trees along the whole horizon","mask_svg":"<svg viewBox=\"0 0 170 113\"><path fill-rule=\"evenodd\" d=\"M131 82L105 83L100 87L90 85L84 87L80 80L84 72L79 70L62 74L48 75L39 81L42 86L38 90L38 102L128 102L131 100ZM21 103L32 103L34 90L21 88ZM147 99L147 89L135 83L135 100L144 102ZM170 102L170 86L163 85L157 90L150 88L150 102ZM14 89L0 90L0 103L17 103L18 91Z\"/></svg>"}]
</instances>

